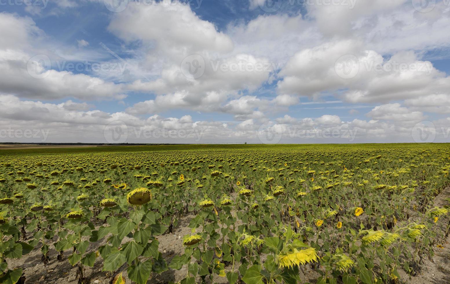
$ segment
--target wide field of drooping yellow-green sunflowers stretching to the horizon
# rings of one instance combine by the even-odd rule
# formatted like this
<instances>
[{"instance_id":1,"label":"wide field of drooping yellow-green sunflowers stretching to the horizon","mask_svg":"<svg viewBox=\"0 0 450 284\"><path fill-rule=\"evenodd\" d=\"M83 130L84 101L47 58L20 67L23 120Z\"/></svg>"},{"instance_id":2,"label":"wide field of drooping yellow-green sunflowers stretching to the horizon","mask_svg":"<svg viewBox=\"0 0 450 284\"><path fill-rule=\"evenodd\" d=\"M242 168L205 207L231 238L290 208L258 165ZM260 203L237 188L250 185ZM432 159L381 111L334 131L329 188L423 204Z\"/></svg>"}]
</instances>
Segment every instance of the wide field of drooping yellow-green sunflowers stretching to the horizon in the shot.
<instances>
[{"instance_id":1,"label":"wide field of drooping yellow-green sunflowers stretching to the horizon","mask_svg":"<svg viewBox=\"0 0 450 284\"><path fill-rule=\"evenodd\" d=\"M446 243L449 171L448 144L0 150L0 283L37 283L31 254L79 284L404 283Z\"/></svg>"}]
</instances>

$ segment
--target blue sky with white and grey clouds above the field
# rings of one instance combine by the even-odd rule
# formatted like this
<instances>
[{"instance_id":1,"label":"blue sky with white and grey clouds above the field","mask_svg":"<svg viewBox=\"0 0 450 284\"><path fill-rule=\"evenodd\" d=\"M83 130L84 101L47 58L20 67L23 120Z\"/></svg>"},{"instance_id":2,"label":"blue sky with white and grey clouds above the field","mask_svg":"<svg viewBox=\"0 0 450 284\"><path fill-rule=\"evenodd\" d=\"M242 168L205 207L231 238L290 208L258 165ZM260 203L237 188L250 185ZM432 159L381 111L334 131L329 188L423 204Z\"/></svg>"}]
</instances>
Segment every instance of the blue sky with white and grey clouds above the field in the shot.
<instances>
[{"instance_id":1,"label":"blue sky with white and grey clouds above the field","mask_svg":"<svg viewBox=\"0 0 450 284\"><path fill-rule=\"evenodd\" d=\"M450 0L0 0L0 142L450 142Z\"/></svg>"}]
</instances>

